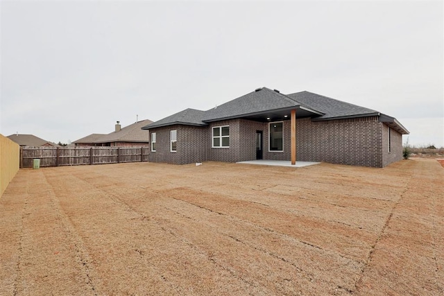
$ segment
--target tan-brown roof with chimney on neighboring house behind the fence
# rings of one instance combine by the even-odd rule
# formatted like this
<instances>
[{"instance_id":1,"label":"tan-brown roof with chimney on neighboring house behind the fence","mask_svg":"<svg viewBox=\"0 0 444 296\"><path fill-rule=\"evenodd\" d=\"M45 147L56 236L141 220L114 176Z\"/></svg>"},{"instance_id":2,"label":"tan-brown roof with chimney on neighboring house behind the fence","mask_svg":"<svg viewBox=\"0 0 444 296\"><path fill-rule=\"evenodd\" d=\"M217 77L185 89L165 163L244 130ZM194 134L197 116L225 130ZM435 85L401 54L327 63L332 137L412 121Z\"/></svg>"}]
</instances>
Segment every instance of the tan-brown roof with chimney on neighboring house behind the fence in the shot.
<instances>
[{"instance_id":1,"label":"tan-brown roof with chimney on neighboring house behind the fence","mask_svg":"<svg viewBox=\"0 0 444 296\"><path fill-rule=\"evenodd\" d=\"M112 142L136 142L147 143L148 133L141 128L153 121L145 119L121 128L119 132L109 134L89 134L87 137L78 139L73 143L112 143Z\"/></svg>"}]
</instances>

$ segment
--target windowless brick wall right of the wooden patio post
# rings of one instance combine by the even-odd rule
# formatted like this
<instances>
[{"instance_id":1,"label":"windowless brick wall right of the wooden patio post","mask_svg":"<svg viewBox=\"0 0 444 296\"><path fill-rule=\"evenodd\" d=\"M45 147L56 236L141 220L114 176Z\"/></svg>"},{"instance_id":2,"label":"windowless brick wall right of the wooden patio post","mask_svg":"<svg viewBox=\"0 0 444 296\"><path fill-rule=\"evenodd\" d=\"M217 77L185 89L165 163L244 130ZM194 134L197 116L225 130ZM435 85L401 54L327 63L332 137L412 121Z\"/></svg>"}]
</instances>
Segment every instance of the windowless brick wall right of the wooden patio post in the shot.
<instances>
[{"instance_id":1,"label":"windowless brick wall right of the wooden patio post","mask_svg":"<svg viewBox=\"0 0 444 296\"><path fill-rule=\"evenodd\" d=\"M377 116L333 121L298 119L297 159L382 167L382 123Z\"/></svg>"}]
</instances>

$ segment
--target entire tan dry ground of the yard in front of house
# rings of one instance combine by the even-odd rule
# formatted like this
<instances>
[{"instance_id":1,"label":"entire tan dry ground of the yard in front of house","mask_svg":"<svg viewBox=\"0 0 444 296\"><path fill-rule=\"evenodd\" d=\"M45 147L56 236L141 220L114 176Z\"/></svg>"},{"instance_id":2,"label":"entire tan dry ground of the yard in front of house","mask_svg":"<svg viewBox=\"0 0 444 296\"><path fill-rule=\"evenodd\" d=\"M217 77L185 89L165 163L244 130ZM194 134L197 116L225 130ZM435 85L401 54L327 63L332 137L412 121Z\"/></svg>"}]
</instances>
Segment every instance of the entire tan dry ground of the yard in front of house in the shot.
<instances>
[{"instance_id":1,"label":"entire tan dry ground of the yard in front of house","mask_svg":"<svg viewBox=\"0 0 444 296\"><path fill-rule=\"evenodd\" d=\"M444 168L22 169L0 295L443 295Z\"/></svg>"}]
</instances>

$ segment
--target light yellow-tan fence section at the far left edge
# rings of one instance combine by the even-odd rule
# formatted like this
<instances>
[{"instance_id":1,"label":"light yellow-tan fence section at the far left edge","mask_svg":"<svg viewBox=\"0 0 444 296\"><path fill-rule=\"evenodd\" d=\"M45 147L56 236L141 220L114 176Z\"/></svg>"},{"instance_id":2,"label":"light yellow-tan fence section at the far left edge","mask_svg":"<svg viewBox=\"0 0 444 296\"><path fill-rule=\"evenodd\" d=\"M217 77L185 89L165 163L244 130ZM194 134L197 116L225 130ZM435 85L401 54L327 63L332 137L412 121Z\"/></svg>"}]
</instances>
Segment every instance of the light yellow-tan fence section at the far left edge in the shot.
<instances>
[{"instance_id":1,"label":"light yellow-tan fence section at the far left edge","mask_svg":"<svg viewBox=\"0 0 444 296\"><path fill-rule=\"evenodd\" d=\"M0 134L0 196L19 171L20 146Z\"/></svg>"}]
</instances>

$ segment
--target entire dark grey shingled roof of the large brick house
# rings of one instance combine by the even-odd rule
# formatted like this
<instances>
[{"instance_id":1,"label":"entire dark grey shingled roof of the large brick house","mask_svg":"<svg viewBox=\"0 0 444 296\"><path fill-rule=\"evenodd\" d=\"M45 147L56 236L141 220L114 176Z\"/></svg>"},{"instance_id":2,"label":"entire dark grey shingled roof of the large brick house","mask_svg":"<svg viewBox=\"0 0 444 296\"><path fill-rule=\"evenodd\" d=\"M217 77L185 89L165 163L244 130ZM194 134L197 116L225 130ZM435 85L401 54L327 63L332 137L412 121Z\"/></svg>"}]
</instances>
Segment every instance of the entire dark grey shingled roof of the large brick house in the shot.
<instances>
[{"instance_id":1,"label":"entire dark grey shingled roof of the large brick house","mask_svg":"<svg viewBox=\"0 0 444 296\"><path fill-rule=\"evenodd\" d=\"M398 130L398 132L402 134L409 133L394 117L386 116L376 110L312 92L297 92L286 95L280 94L278 90L271 90L266 87L255 89L254 92L235 98L207 111L187 109L178 112L160 121L151 123L145 126L144 129L174 124L206 125L206 123L212 121L235 118L255 120L258 115L264 116L268 112L275 112L275 114L280 112L282 114L282 112L292 109L299 110L296 112L298 117L310 116L313 121L379 116L379 121L387 123L395 130Z\"/></svg>"}]
</instances>

